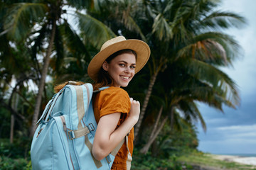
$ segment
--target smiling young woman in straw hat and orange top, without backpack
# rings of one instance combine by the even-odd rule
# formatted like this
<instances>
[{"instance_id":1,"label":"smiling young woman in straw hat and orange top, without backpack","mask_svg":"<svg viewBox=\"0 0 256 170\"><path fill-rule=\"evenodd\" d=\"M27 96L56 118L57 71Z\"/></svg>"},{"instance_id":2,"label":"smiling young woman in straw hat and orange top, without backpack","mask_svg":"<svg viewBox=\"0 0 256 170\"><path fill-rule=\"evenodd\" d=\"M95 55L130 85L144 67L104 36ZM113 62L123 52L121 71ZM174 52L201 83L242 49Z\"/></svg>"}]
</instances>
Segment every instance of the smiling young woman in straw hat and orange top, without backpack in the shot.
<instances>
[{"instance_id":1,"label":"smiling young woman in straw hat and orange top, without backpack","mask_svg":"<svg viewBox=\"0 0 256 170\"><path fill-rule=\"evenodd\" d=\"M150 49L141 40L126 40L123 36L108 40L88 67L94 89L110 86L92 98L97 130L92 146L95 159L101 160L128 136L117 153L112 169L130 169L134 140L133 127L139 119L139 101L129 98L124 89L134 74L149 60Z\"/></svg>"}]
</instances>

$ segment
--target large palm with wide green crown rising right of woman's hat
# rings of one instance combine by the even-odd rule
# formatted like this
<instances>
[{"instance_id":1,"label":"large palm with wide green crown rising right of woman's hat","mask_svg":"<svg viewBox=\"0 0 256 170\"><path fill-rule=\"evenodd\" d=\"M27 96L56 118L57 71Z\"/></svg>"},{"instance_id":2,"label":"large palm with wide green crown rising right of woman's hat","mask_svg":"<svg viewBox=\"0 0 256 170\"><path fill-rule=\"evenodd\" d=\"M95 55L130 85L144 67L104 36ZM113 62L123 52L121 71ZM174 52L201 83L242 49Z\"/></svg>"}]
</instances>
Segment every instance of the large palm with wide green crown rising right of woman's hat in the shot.
<instances>
[{"instance_id":1,"label":"large palm with wide green crown rising right of woman's hat","mask_svg":"<svg viewBox=\"0 0 256 170\"><path fill-rule=\"evenodd\" d=\"M230 65L236 57L234 54L238 51L237 43L230 36L212 30L239 26L244 18L234 13L213 11L217 4L215 1L181 0L105 1L100 5L99 11L87 11L93 18L110 26L114 33L145 40L151 47L149 70L139 73L141 76L151 76L134 131L135 137L139 134L156 78L167 67L180 57L192 57L218 66ZM144 77L148 79L147 76ZM230 85L228 88L237 97L237 92Z\"/></svg>"}]
</instances>

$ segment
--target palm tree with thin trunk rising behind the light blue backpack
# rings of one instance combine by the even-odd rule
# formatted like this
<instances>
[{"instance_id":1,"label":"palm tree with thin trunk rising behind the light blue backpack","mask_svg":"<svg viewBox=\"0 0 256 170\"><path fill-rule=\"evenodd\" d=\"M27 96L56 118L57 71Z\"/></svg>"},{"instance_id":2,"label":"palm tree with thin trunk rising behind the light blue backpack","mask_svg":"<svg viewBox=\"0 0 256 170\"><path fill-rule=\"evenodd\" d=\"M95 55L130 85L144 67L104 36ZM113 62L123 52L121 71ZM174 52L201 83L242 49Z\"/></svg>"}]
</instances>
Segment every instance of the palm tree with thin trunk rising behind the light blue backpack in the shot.
<instances>
[{"instance_id":1,"label":"palm tree with thin trunk rising behind the light blue backpack","mask_svg":"<svg viewBox=\"0 0 256 170\"><path fill-rule=\"evenodd\" d=\"M4 19L4 31L1 35L6 34L10 40L16 41L30 39L31 46L33 46L33 60L37 62L38 58L43 56L43 65L40 67L38 64L38 70L41 74L38 74L40 82L38 83L38 96L36 98L36 106L31 125L31 136L34 130L36 130L36 121L38 120L41 109L41 100L46 83L46 76L48 74L50 57L56 53L56 69L59 69L58 66L60 62L63 61L64 52L62 42L64 41L61 42L61 40L69 40L69 42L65 42L65 45L69 46L71 51L78 50L78 52L82 52L82 55L86 55L84 50L86 49L85 45L81 42L81 39L75 31L73 31L73 28L71 28L67 18L65 18L65 14L67 14L69 8L65 10L63 6L71 6L78 9L94 8L95 4L97 4L96 2L97 1L31 0L24 3L13 3L6 12L7 17ZM81 21L82 17L86 16L79 12L70 11L72 15L77 16ZM96 23L97 20L95 20L95 24ZM103 26L101 33L108 35L111 31L106 28L106 26ZM98 30L100 30L100 28L98 28ZM93 36L95 37L96 35L90 34L88 38L92 38ZM97 37L95 43L100 44L105 41L105 37ZM48 45L48 47L46 47L46 45Z\"/></svg>"}]
</instances>

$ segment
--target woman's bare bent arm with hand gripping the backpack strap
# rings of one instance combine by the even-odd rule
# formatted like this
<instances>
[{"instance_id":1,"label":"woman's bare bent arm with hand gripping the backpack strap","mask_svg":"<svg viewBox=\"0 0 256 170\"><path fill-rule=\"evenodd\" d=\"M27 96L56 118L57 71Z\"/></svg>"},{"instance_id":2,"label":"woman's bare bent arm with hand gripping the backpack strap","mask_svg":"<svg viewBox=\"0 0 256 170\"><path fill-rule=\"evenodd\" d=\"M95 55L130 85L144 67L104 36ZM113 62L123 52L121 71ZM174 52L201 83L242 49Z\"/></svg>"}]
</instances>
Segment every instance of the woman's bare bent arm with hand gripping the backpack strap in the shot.
<instances>
[{"instance_id":1,"label":"woman's bare bent arm with hand gripping the backpack strap","mask_svg":"<svg viewBox=\"0 0 256 170\"><path fill-rule=\"evenodd\" d=\"M112 113L100 118L92 145L92 154L95 159L101 160L107 157L137 123L140 112L139 101L134 101L132 98L130 98L130 101L131 111L129 116L119 128L117 128L117 123L121 113Z\"/></svg>"}]
</instances>

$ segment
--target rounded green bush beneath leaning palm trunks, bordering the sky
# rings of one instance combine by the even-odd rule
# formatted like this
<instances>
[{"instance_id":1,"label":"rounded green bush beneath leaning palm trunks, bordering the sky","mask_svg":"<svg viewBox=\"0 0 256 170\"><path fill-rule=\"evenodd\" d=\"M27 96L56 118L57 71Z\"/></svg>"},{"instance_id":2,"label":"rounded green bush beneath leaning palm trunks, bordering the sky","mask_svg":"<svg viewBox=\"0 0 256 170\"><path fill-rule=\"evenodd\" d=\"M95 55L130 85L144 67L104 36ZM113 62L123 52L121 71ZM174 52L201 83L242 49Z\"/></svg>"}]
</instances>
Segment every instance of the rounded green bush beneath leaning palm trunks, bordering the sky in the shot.
<instances>
[{"instance_id":1,"label":"rounded green bush beneath leaning palm trunks, bordering the sky","mask_svg":"<svg viewBox=\"0 0 256 170\"><path fill-rule=\"evenodd\" d=\"M149 120L147 120L149 122ZM177 126L178 124L178 126ZM174 155L181 156L191 152L198 147L196 127L187 123L186 120L178 118L178 123L171 128L171 124L167 122L164 128L159 133L156 140L149 149L149 155L158 159L166 159ZM148 142L148 137L151 134L152 125L143 125L143 134L137 144L137 149L144 147L144 143Z\"/></svg>"}]
</instances>

